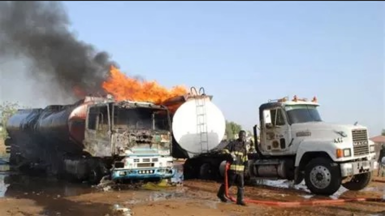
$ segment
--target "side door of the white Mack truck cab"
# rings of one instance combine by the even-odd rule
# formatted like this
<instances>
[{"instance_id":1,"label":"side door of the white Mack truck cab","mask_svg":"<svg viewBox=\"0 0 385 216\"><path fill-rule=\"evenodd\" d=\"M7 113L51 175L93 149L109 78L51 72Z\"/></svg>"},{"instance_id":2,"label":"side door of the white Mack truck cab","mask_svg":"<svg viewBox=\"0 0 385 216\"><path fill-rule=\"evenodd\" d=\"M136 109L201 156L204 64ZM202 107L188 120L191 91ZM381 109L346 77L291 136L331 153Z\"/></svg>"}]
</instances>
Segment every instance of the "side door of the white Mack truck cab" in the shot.
<instances>
[{"instance_id":1,"label":"side door of the white Mack truck cab","mask_svg":"<svg viewBox=\"0 0 385 216\"><path fill-rule=\"evenodd\" d=\"M271 155L285 154L291 139L290 127L282 108L270 108L263 111L264 122L262 139L264 145L262 150ZM278 153L278 154L277 154Z\"/></svg>"}]
</instances>

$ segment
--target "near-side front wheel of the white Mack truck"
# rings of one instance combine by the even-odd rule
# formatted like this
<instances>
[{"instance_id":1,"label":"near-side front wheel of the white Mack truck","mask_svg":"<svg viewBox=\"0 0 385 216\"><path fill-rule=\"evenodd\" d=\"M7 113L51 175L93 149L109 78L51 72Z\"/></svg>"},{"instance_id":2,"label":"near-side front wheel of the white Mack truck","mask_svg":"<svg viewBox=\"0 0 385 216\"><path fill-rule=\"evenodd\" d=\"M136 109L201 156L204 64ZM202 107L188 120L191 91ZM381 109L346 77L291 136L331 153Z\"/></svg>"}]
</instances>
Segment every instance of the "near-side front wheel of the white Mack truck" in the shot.
<instances>
[{"instance_id":1,"label":"near-side front wheel of the white Mack truck","mask_svg":"<svg viewBox=\"0 0 385 216\"><path fill-rule=\"evenodd\" d=\"M330 196L340 188L340 169L332 163L328 158L315 158L306 165L305 183L311 193Z\"/></svg>"}]
</instances>

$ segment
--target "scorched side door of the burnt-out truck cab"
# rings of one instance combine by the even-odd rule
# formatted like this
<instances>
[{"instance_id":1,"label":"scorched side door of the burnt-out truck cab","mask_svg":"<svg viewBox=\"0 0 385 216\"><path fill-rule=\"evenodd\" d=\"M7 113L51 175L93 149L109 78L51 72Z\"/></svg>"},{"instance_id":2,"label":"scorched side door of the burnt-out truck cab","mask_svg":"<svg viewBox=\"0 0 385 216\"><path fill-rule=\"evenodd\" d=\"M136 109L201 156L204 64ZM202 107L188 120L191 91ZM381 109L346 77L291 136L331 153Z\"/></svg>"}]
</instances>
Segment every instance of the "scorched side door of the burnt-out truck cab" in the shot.
<instances>
[{"instance_id":1,"label":"scorched side door of the burnt-out truck cab","mask_svg":"<svg viewBox=\"0 0 385 216\"><path fill-rule=\"evenodd\" d=\"M87 112L84 148L92 156L111 156L108 104L91 106Z\"/></svg>"}]
</instances>

